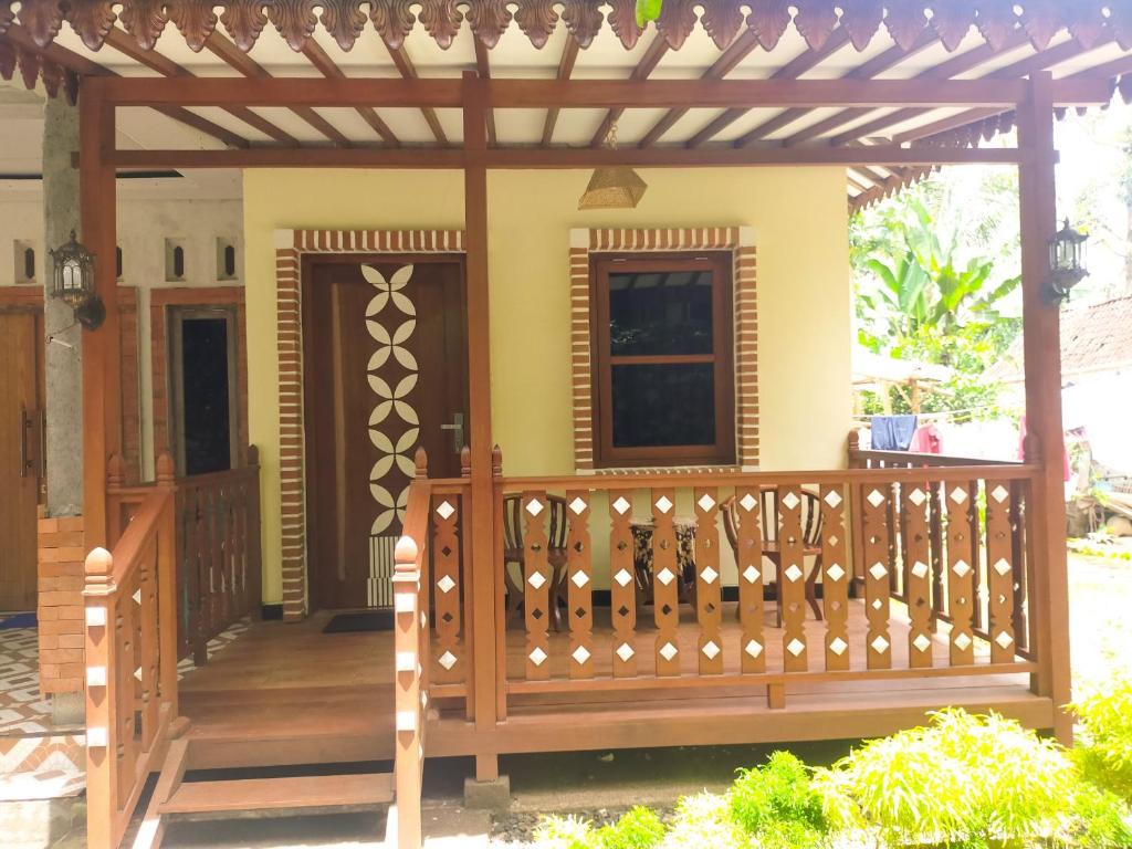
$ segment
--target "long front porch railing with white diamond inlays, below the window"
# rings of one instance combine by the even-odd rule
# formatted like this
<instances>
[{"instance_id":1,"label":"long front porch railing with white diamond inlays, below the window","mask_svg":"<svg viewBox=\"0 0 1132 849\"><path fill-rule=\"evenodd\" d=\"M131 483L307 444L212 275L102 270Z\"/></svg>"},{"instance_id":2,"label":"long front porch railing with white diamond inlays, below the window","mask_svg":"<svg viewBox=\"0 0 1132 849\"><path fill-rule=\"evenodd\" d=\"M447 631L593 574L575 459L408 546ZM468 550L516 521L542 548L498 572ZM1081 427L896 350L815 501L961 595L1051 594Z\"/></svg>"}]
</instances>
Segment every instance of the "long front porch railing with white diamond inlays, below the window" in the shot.
<instances>
[{"instance_id":1,"label":"long front porch railing with white diamond inlays, below the window","mask_svg":"<svg viewBox=\"0 0 1132 849\"><path fill-rule=\"evenodd\" d=\"M499 475L495 515L503 516L508 496L521 499L524 561L522 621L515 626L523 638L501 641L499 668L512 661L501 686L513 698L758 685L771 707L783 707L790 681L1035 672L1026 503L1036 473L1013 464ZM777 490L777 516L764 515L767 488ZM568 521L558 549L565 567L557 575L548 540L551 496L564 499ZM734 569L726 563L730 551L721 557L720 505L728 498L738 538ZM822 621L811 618L805 598L813 561L803 543L807 504L816 505L809 508L822 522ZM677 514L693 515L696 526L695 574L683 591ZM648 608L634 580L634 516L652 521ZM767 521L777 524L773 533L764 533ZM764 606L774 603L764 597L764 539L778 540L781 628L764 619ZM501 546L497 557L503 610ZM863 598L854 598L855 560ZM599 582L608 582L610 610L609 625L602 614L595 628ZM724 604L732 591L734 612ZM681 595L694 611L683 625ZM567 634L551 631L559 600ZM857 627L849 627L850 617Z\"/></svg>"}]
</instances>

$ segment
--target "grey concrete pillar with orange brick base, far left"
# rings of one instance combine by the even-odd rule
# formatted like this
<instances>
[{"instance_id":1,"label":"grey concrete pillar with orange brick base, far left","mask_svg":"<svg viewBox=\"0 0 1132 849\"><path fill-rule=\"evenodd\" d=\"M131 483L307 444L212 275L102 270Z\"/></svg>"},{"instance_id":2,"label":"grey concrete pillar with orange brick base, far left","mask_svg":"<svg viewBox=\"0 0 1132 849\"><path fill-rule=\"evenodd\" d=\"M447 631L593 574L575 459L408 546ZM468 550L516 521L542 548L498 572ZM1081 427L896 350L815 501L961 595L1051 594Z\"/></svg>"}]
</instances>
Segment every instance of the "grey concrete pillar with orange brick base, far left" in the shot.
<instances>
[{"instance_id":1,"label":"grey concrete pillar with orange brick base, far left","mask_svg":"<svg viewBox=\"0 0 1132 849\"><path fill-rule=\"evenodd\" d=\"M78 114L63 97L46 98L43 233L49 249L63 245L71 230L83 237L78 169L71 162L78 152ZM46 518L40 523L40 684L51 695L55 723L70 726L84 715L82 677L76 675L83 667L82 652L76 654L83 623L70 616L82 610L82 591L76 588L82 586L85 554L85 546L75 546L83 515L83 331L71 308L51 298L50 257L44 257L43 269ZM72 593L74 598L63 598ZM66 603L57 604L60 599Z\"/></svg>"}]
</instances>

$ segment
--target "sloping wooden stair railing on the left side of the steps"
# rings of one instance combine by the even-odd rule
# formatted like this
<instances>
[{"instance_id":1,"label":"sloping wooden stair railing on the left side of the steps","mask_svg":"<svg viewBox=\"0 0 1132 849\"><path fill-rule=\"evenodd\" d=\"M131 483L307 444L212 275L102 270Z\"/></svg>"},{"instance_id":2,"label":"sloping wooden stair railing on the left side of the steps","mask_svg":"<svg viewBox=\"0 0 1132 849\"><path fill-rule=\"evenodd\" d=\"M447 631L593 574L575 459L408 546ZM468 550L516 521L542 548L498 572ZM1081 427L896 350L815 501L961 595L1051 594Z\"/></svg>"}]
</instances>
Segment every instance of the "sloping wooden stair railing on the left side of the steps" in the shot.
<instances>
[{"instance_id":1,"label":"sloping wooden stair railing on the left side of the steps","mask_svg":"<svg viewBox=\"0 0 1132 849\"><path fill-rule=\"evenodd\" d=\"M177 718L173 465L132 511L112 551L86 558L87 842L115 847Z\"/></svg>"}]
</instances>

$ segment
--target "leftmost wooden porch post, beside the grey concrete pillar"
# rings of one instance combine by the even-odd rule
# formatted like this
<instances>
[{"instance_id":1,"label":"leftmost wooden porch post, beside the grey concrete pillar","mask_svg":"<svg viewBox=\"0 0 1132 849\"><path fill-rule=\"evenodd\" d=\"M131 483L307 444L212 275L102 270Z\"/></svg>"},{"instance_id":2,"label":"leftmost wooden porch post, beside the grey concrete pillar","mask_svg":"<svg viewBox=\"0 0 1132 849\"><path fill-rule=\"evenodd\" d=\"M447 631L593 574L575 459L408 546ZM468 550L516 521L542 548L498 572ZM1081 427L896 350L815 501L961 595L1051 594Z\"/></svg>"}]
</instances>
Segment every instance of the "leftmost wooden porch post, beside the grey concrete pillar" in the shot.
<instances>
[{"instance_id":1,"label":"leftmost wooden porch post, beside the grey concrete pillar","mask_svg":"<svg viewBox=\"0 0 1132 849\"><path fill-rule=\"evenodd\" d=\"M121 451L121 352L114 265L117 208L114 108L103 97L105 80L86 77L79 100L79 203L83 242L95 256L95 284L106 318L83 338L83 515L88 549L105 546L106 462Z\"/></svg>"}]
</instances>

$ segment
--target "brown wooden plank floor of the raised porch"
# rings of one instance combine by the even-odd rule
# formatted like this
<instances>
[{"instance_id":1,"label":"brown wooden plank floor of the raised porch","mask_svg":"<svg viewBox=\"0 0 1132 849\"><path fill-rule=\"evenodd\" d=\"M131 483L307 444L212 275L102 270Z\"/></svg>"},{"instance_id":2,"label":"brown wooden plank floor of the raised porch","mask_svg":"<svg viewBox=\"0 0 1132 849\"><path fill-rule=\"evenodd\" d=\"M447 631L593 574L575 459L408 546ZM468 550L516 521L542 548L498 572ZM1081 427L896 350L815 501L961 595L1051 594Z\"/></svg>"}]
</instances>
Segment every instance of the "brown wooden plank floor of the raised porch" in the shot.
<instances>
[{"instance_id":1,"label":"brown wooden plank floor of the raised porch","mask_svg":"<svg viewBox=\"0 0 1132 849\"><path fill-rule=\"evenodd\" d=\"M738 670L739 627L734 604L724 611L724 667ZM608 612L598 614L597 674L608 676L612 651ZM389 632L324 634L329 615L299 624L257 623L208 666L181 683L181 713L191 722L198 766L240 766L386 760L393 754L393 638ZM680 653L694 669L697 628L681 621ZM811 645L821 646L822 623L807 619ZM852 668L864 669L864 609L850 617ZM894 620L893 664L907 666L907 626ZM767 667L781 668L782 640L767 612ZM637 627L640 674L650 676L655 629ZM566 677L568 635L551 634L551 672ZM507 633L508 680L524 670L524 638ZM945 666L938 641L936 663ZM811 651L811 668L822 653ZM443 711L427 736L429 755L478 751L539 752L600 747L790 741L886 734L921 721L945 705L998 710L1035 726L1052 719L1048 700L1029 692L1026 675L902 677L885 680L791 681L784 710L767 706L763 686L672 688L646 680L625 691L513 693L509 715L477 735L458 711ZM443 704L443 703L441 703Z\"/></svg>"}]
</instances>

